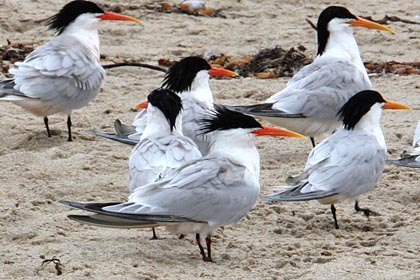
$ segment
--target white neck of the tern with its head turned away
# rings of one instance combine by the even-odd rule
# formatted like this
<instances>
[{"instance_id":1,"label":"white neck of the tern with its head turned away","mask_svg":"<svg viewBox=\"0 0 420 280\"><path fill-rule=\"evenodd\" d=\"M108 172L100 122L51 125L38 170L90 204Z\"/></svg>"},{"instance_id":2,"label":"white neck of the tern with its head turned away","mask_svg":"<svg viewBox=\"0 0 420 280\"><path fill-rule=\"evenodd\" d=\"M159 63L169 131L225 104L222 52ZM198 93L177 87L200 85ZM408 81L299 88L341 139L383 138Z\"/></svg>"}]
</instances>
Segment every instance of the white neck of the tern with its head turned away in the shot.
<instances>
[{"instance_id":1,"label":"white neck of the tern with its head turned away","mask_svg":"<svg viewBox=\"0 0 420 280\"><path fill-rule=\"evenodd\" d=\"M157 138L171 134L182 135L182 118L180 115L175 120L175 127L171 130L165 115L157 108L147 108L147 125L140 140L145 138Z\"/></svg>"}]
</instances>

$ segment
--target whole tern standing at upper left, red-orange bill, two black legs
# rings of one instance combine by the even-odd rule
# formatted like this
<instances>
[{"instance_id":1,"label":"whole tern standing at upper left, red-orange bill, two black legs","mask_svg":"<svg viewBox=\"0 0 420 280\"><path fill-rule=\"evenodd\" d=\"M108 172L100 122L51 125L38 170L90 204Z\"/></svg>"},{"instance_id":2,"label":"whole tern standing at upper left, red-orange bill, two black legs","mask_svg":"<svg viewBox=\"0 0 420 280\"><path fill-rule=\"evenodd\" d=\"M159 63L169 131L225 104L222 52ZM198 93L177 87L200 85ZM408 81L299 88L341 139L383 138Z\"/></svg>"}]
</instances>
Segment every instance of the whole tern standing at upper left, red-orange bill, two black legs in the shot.
<instances>
[{"instance_id":1,"label":"whole tern standing at upper left, red-orange bill, two black legs","mask_svg":"<svg viewBox=\"0 0 420 280\"><path fill-rule=\"evenodd\" d=\"M101 20L140 22L133 17L105 12L93 2L76 0L49 18L49 29L57 36L31 52L17 68L13 79L0 82L0 101L10 101L44 117L67 114L68 141L72 141L71 112L96 97L105 78L99 63Z\"/></svg>"}]
</instances>

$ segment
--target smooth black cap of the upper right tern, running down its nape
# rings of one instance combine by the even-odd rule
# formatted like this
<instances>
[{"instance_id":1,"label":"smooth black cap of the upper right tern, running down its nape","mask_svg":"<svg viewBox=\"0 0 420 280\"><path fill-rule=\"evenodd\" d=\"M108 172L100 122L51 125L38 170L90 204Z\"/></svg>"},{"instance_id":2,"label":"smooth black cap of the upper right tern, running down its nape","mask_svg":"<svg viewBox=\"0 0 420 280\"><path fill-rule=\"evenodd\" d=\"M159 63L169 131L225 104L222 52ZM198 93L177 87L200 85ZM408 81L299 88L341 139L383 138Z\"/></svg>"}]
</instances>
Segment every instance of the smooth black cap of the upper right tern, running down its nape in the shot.
<instances>
[{"instance_id":1,"label":"smooth black cap of the upper right tern, running down its nape","mask_svg":"<svg viewBox=\"0 0 420 280\"><path fill-rule=\"evenodd\" d=\"M322 55L324 53L330 36L328 23L335 18L356 19L356 16L350 13L350 11L346 8L340 6L329 6L321 12L316 26L318 34L318 55Z\"/></svg>"}]
</instances>

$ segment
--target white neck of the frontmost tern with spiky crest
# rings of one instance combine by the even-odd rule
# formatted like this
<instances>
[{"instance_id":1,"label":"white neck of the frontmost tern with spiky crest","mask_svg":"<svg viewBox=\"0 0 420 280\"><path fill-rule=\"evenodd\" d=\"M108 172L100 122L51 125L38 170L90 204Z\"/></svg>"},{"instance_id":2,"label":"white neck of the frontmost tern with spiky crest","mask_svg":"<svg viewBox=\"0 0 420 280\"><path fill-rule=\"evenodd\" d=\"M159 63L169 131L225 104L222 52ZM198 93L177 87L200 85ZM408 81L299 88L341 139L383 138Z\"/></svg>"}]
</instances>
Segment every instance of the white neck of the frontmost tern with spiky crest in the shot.
<instances>
[{"instance_id":1,"label":"white neck of the frontmost tern with spiky crest","mask_svg":"<svg viewBox=\"0 0 420 280\"><path fill-rule=\"evenodd\" d=\"M245 166L256 178L260 176L260 154L255 147L255 137L241 129L214 131L209 135L207 155L228 158Z\"/></svg>"}]
</instances>

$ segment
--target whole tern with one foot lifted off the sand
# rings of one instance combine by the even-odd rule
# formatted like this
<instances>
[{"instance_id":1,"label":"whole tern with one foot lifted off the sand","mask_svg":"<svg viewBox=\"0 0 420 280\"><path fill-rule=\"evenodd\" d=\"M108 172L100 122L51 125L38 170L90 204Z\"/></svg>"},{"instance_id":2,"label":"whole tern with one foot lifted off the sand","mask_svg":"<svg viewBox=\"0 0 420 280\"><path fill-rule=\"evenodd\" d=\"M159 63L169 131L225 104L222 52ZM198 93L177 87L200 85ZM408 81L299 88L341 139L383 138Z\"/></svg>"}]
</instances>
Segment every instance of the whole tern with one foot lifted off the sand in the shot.
<instances>
[{"instance_id":1,"label":"whole tern with one foot lifted off the sand","mask_svg":"<svg viewBox=\"0 0 420 280\"><path fill-rule=\"evenodd\" d=\"M380 119L382 109L410 109L386 101L376 91L361 91L351 97L338 112L343 127L319 143L309 154L305 169L289 177L288 190L263 197L268 201L318 200L331 204L335 228L338 229L334 204L354 199L356 211L369 217L376 214L360 208L358 197L370 191L382 176L386 143Z\"/></svg>"}]
</instances>

